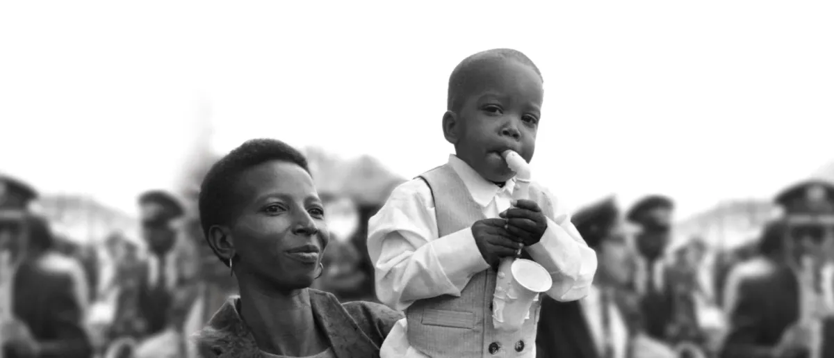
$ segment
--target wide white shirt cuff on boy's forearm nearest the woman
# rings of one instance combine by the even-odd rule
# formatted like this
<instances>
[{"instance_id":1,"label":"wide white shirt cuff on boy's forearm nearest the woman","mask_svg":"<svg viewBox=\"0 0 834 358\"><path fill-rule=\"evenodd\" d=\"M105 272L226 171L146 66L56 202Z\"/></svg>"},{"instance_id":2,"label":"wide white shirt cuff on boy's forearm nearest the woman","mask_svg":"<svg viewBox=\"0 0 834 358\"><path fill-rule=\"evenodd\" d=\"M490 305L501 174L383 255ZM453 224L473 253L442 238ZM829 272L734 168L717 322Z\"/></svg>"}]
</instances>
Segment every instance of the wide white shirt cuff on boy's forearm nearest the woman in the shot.
<instances>
[{"instance_id":1,"label":"wide white shirt cuff on boy's forearm nearest the woman","mask_svg":"<svg viewBox=\"0 0 834 358\"><path fill-rule=\"evenodd\" d=\"M480 255L469 227L431 241L429 245L443 273L459 290L463 290L473 275L490 268Z\"/></svg>"}]
</instances>

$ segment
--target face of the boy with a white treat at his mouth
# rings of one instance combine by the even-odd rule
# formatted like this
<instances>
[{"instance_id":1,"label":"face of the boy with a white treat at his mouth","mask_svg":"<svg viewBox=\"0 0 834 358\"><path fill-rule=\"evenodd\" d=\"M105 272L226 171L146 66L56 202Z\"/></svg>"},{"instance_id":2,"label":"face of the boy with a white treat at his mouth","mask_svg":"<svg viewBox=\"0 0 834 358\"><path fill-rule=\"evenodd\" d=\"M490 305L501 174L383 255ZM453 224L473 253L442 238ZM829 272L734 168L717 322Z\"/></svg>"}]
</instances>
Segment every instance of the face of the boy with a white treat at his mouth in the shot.
<instances>
[{"instance_id":1,"label":"face of the boy with a white treat at his mouth","mask_svg":"<svg viewBox=\"0 0 834 358\"><path fill-rule=\"evenodd\" d=\"M512 149L528 163L535 151L544 90L530 66L511 59L481 65L458 113L444 118L446 139L458 158L482 177L505 182L514 173L501 153Z\"/></svg>"}]
</instances>

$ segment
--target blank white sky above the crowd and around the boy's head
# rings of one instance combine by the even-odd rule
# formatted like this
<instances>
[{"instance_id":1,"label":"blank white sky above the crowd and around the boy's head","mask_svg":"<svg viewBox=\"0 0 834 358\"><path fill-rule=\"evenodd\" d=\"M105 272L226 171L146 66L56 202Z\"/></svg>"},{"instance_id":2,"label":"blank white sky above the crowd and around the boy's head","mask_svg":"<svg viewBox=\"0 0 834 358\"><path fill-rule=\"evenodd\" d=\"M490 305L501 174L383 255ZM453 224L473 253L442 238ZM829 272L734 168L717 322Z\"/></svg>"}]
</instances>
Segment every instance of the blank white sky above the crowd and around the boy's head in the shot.
<instances>
[{"instance_id":1,"label":"blank white sky above the crowd and around the boy's head","mask_svg":"<svg viewBox=\"0 0 834 358\"><path fill-rule=\"evenodd\" d=\"M545 76L535 176L572 204L767 198L834 159L834 2L7 2L0 171L135 212L210 103L254 137L445 162L446 80L487 48Z\"/></svg>"}]
</instances>

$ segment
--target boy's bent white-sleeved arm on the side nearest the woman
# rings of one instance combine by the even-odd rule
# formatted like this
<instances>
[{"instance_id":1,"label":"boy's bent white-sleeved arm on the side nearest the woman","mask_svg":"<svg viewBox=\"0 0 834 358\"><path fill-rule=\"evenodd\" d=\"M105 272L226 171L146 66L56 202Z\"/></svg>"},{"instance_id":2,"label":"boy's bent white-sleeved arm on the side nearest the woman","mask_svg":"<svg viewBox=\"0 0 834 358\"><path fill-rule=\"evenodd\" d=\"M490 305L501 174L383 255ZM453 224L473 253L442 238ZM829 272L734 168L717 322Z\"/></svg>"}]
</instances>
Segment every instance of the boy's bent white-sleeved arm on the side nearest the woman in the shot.
<instances>
[{"instance_id":1,"label":"boy's bent white-sleeved arm on the side nearest the woman","mask_svg":"<svg viewBox=\"0 0 834 358\"><path fill-rule=\"evenodd\" d=\"M394 189L368 223L368 252L380 302L405 310L414 300L460 296L473 275L490 267L470 227L437 236L429 186L414 179Z\"/></svg>"}]
</instances>

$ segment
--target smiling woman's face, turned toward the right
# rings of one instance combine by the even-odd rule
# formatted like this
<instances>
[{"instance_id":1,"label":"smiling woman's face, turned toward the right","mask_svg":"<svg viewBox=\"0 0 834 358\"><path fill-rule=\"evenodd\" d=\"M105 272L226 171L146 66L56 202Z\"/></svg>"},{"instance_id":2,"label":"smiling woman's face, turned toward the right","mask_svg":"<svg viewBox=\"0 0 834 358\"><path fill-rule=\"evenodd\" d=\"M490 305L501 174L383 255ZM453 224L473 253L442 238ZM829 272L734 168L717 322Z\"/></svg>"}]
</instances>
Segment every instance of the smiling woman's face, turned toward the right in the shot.
<instances>
[{"instance_id":1,"label":"smiling woman's face, turned toward the right","mask_svg":"<svg viewBox=\"0 0 834 358\"><path fill-rule=\"evenodd\" d=\"M329 236L313 178L299 165L273 160L246 170L229 226L239 279L253 276L284 290L309 287Z\"/></svg>"}]
</instances>

